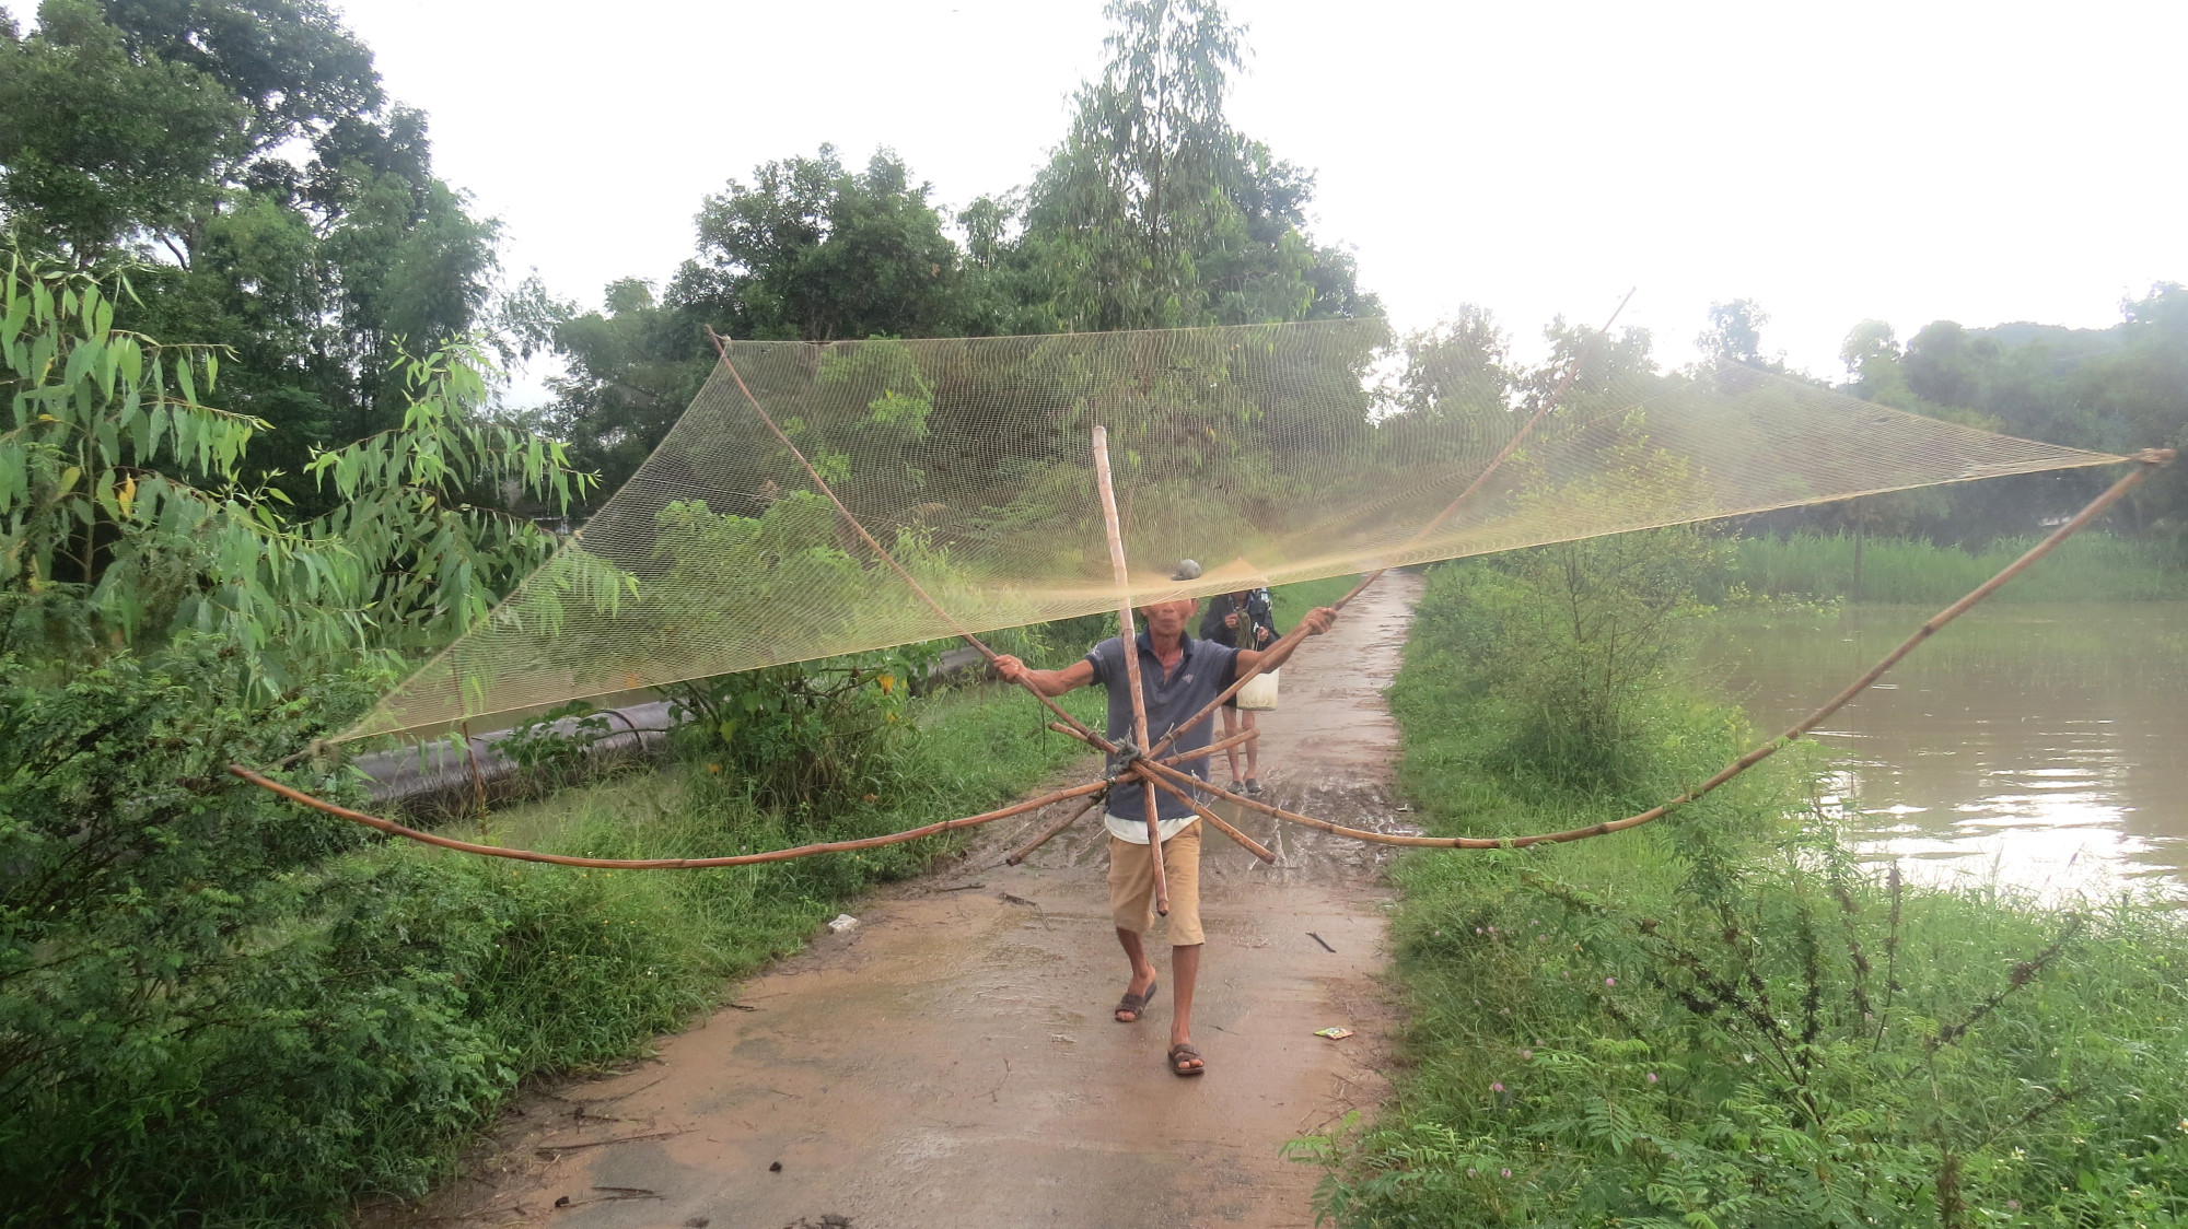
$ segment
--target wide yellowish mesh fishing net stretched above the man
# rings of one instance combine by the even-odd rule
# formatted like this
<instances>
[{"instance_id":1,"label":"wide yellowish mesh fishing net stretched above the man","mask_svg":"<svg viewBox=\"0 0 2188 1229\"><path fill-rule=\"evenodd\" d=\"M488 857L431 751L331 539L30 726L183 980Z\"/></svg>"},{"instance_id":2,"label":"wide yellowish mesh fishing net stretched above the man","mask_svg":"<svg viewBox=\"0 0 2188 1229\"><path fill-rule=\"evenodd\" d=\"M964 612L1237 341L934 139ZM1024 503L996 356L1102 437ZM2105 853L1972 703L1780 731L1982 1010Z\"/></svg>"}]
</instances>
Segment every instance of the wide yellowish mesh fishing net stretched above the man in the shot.
<instances>
[{"instance_id":1,"label":"wide yellowish mesh fishing net stretched above the man","mask_svg":"<svg viewBox=\"0 0 2188 1229\"><path fill-rule=\"evenodd\" d=\"M344 737L952 634L744 389L971 630L1116 608L1096 424L1127 555L1149 569L1140 601L2118 459L1748 367L1615 374L1597 354L1553 387L1464 354L1409 359L1376 319L733 341L724 359L554 560ZM1203 575L1168 580L1182 558Z\"/></svg>"}]
</instances>

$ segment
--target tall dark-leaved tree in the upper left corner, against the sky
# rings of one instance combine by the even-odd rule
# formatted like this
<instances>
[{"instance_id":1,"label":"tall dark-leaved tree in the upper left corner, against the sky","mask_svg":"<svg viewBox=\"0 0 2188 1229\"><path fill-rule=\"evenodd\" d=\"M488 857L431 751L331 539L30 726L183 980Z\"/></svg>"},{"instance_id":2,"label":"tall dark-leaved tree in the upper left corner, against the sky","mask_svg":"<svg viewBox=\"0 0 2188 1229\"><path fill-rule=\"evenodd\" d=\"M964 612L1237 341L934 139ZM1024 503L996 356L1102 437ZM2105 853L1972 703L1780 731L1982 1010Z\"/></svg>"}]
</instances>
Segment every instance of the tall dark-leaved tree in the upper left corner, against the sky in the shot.
<instances>
[{"instance_id":1,"label":"tall dark-leaved tree in the upper left corner, against the sky","mask_svg":"<svg viewBox=\"0 0 2188 1229\"><path fill-rule=\"evenodd\" d=\"M269 481L383 431L387 374L490 315L494 225L431 173L424 116L319 0L46 0L0 42L0 212L79 269L131 258L123 328L228 346Z\"/></svg>"}]
</instances>

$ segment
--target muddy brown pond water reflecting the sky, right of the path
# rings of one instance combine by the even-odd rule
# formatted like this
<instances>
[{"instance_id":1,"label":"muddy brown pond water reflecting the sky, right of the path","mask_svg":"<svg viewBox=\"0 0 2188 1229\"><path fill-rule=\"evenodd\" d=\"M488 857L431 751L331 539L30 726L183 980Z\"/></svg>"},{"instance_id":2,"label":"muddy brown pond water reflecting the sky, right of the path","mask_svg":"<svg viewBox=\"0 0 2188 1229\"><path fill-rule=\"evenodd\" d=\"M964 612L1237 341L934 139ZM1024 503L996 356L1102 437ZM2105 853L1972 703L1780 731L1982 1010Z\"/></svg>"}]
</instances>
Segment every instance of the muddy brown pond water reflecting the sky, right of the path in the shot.
<instances>
[{"instance_id":1,"label":"muddy brown pond water reflecting the sky, right of the path","mask_svg":"<svg viewBox=\"0 0 2188 1229\"><path fill-rule=\"evenodd\" d=\"M1930 608L1733 612L1700 647L1768 730L1829 700ZM2188 897L2188 604L1989 606L1816 739L1875 857L2046 897Z\"/></svg>"}]
</instances>

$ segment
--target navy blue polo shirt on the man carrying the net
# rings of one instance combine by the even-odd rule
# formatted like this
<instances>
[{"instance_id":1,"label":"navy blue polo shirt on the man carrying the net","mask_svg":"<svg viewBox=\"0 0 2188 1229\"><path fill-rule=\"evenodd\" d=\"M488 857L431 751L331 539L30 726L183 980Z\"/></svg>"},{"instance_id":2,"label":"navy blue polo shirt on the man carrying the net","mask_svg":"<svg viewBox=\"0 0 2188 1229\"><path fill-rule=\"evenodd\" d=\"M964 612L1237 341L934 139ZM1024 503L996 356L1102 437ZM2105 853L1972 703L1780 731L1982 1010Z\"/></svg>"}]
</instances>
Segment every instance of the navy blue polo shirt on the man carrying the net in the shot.
<instances>
[{"instance_id":1,"label":"navy blue polo shirt on the man carrying the net","mask_svg":"<svg viewBox=\"0 0 2188 1229\"><path fill-rule=\"evenodd\" d=\"M1160 744L1173 726L1186 717L1199 713L1210 700L1223 693L1238 678L1238 649L1230 645L1219 645L1214 641L1195 641L1192 636L1179 636L1179 647L1184 656L1168 676L1162 674L1162 660L1155 658L1155 647L1149 643L1147 632L1138 634L1140 645L1140 693L1147 700L1147 739L1149 744ZM1101 682L1109 691L1109 741L1120 741L1131 737L1131 693L1125 676L1125 641L1122 636L1109 636L1107 641L1087 649L1087 663L1094 667L1094 682ZM1186 730L1164 757L1199 750L1214 739L1214 713L1201 719L1199 726ZM1147 750L1147 748L1140 748ZM1116 759L1109 759L1109 770L1116 770ZM1179 772L1190 772L1201 781L1208 779L1208 761L1179 763ZM1136 779L1118 781L1109 787L1109 814L1125 820L1125 824L1112 824L1125 840L1136 840L1136 844L1147 844L1147 803L1140 794L1147 789ZM1192 807L1184 805L1179 798L1155 789L1155 816L1160 820L1192 820ZM1171 831L1182 829L1184 822L1164 822L1162 840L1171 840ZM1129 829L1127 835L1120 829Z\"/></svg>"}]
</instances>

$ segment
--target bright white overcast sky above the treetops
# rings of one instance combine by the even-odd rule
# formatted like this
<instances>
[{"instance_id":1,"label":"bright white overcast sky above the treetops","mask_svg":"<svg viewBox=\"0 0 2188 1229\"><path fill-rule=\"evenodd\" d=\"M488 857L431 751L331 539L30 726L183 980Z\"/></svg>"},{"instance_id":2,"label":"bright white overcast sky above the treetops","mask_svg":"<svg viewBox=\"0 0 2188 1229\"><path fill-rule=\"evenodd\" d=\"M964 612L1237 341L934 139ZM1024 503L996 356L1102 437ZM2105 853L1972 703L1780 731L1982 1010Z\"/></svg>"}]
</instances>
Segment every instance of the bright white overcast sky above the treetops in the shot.
<instances>
[{"instance_id":1,"label":"bright white overcast sky above the treetops","mask_svg":"<svg viewBox=\"0 0 2188 1229\"><path fill-rule=\"evenodd\" d=\"M691 251L770 157L897 149L934 199L1024 184L1098 0L337 0L512 276L589 306ZM2188 4L1238 0L1232 120L1319 177L1315 234L1400 326L1564 313L1680 361L1713 300L1838 376L1847 328L2109 326L2188 280ZM521 391L532 381L521 381Z\"/></svg>"}]
</instances>

